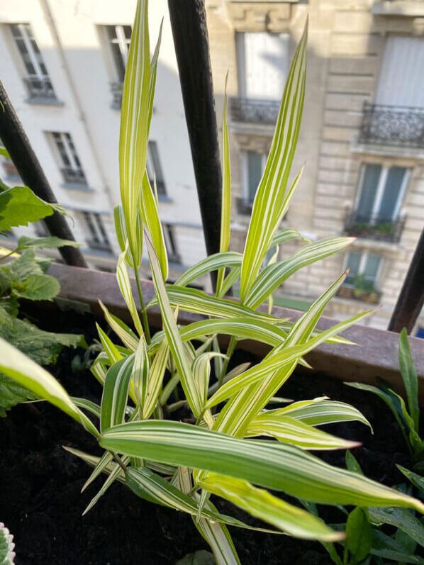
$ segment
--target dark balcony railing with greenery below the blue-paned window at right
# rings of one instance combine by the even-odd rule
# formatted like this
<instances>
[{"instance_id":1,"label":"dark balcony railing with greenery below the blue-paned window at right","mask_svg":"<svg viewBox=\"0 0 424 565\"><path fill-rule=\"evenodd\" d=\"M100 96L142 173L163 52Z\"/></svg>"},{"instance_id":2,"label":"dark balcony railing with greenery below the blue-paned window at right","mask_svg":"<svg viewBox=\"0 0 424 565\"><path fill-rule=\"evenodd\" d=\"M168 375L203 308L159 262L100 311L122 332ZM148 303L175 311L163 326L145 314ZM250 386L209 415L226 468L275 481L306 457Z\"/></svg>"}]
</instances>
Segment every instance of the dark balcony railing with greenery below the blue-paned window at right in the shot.
<instances>
[{"instance_id":1,"label":"dark balcony railing with greenery below the blue-paned window at right","mask_svg":"<svg viewBox=\"0 0 424 565\"><path fill-rule=\"evenodd\" d=\"M345 232L365 239L398 242L401 239L406 216L393 219L381 214L361 214L348 212L345 220Z\"/></svg>"}]
</instances>

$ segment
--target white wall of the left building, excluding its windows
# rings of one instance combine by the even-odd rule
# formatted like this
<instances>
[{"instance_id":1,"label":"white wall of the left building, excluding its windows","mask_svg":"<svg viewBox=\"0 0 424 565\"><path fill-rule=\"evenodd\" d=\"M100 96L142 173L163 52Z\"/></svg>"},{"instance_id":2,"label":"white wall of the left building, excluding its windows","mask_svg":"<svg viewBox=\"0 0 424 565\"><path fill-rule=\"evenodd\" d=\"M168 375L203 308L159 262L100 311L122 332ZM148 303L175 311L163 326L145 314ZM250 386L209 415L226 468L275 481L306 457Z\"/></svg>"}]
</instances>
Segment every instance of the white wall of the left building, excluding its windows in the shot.
<instances>
[{"instance_id":1,"label":"white wall of the left building, excluding its windows","mask_svg":"<svg viewBox=\"0 0 424 565\"><path fill-rule=\"evenodd\" d=\"M74 218L74 235L85 241L87 225L81 211L101 214L111 253L84 247L90 267L114 269L119 253L113 228L113 207L120 200L118 140L120 111L112 107L111 82L116 81L113 58L102 26L133 24L136 0L0 0L0 75L23 127L38 155L55 195ZM191 164L182 94L179 86L166 0L150 2L151 50L164 18L157 65L157 86L150 139L160 156L166 198L160 217L173 226L182 264L172 264L169 279L206 256L199 202ZM10 23L30 23L42 54L56 104L33 104L23 83L26 76ZM69 132L82 164L87 186L66 186L46 132ZM1 133L0 133L1 135ZM1 172L3 173L3 171ZM1 175L4 177L4 174ZM6 179L9 184L16 179ZM16 235L32 233L31 228ZM194 242L196 245L194 245ZM142 271L148 276L147 252ZM207 279L203 281L208 284Z\"/></svg>"}]
</instances>

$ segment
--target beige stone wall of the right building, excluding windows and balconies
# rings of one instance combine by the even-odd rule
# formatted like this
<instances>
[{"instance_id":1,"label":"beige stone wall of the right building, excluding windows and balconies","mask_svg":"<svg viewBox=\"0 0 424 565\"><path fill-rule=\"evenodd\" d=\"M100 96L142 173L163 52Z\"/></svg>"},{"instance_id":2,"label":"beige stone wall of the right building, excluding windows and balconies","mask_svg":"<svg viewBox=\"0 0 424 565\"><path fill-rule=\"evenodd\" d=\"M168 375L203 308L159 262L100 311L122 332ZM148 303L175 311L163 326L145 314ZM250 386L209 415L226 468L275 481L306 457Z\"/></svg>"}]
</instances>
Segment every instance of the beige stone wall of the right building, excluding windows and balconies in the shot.
<instances>
[{"instance_id":1,"label":"beige stone wall of the right building, excluding windows and balconies","mask_svg":"<svg viewBox=\"0 0 424 565\"><path fill-rule=\"evenodd\" d=\"M411 169L402 203L407 217L400 241L388 243L358 237L350 248L379 253L383 258L379 276L382 307L365 323L386 328L424 224L424 147L417 150L359 145L357 140L364 101L374 100L388 34L423 37L421 16L424 14L373 13L376 5L381 4L372 0L310 0L308 3L206 0L218 123L222 121L227 70L228 96L240 96L235 34L288 32L291 59L306 14L309 15L306 96L292 177L303 162L306 169L282 226L298 228L312 240L343 235L347 210L355 204L362 164L376 162ZM421 106L424 107L424 93ZM236 203L237 197L242 196L240 152L268 152L273 126L240 123L230 115L229 129L233 180L231 245L242 251L248 217L238 213ZM300 243L287 242L281 247L280 258L288 257L299 249ZM312 301L343 272L346 255L347 252L341 252L301 269L277 294ZM337 296L326 314L345 318L365 307L369 305L364 301ZM421 317L420 324L423 323Z\"/></svg>"}]
</instances>

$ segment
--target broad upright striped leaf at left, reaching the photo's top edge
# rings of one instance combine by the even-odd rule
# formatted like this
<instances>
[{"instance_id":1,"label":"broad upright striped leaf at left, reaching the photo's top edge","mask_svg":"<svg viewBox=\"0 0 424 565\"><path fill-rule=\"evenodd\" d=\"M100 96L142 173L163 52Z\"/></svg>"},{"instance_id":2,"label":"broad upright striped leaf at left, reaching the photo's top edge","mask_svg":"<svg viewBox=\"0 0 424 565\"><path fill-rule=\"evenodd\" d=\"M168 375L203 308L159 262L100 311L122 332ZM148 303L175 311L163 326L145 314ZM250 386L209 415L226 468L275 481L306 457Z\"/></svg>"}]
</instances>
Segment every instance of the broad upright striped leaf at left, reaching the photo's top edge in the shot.
<instances>
[{"instance_id":1,"label":"broad upright striped leaf at left, reaching the photo's top edge","mask_svg":"<svg viewBox=\"0 0 424 565\"><path fill-rule=\"evenodd\" d=\"M147 0L138 0L123 82L119 135L119 179L129 247L137 240L137 210L147 160L150 105L150 42Z\"/></svg>"}]
</instances>

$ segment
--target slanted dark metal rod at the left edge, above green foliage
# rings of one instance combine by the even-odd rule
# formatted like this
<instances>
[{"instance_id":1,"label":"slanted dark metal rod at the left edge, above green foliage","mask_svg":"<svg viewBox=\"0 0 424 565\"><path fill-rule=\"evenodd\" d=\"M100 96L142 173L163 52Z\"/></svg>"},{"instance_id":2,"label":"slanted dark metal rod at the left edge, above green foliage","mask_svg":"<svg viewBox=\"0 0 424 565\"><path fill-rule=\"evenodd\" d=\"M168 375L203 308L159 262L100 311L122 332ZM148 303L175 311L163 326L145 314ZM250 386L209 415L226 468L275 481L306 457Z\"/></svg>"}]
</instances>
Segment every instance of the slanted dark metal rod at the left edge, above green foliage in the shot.
<instances>
[{"instance_id":1,"label":"slanted dark metal rod at the left edge, above green foliage","mask_svg":"<svg viewBox=\"0 0 424 565\"><path fill-rule=\"evenodd\" d=\"M46 202L57 203L55 194L53 194L49 181L1 81L0 102L3 104L3 108L0 106L0 137L11 156L13 164L18 169L19 176L37 196L43 198ZM43 222L51 235L56 235L64 240L74 240L71 228L60 213L55 212L52 216L43 218ZM77 247L60 247L59 252L68 265L88 267L84 255Z\"/></svg>"}]
</instances>

